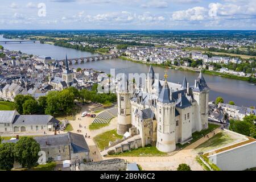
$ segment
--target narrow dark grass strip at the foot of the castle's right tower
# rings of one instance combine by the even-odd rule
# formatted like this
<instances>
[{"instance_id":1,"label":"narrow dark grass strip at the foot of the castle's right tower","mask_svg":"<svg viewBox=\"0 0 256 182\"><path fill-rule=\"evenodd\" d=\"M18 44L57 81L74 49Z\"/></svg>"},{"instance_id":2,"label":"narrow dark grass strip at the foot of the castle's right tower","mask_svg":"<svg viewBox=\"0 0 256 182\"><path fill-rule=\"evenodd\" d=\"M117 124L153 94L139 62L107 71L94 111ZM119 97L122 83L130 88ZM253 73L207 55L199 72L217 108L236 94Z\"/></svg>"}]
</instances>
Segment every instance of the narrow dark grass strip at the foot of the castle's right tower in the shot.
<instances>
[{"instance_id":1,"label":"narrow dark grass strip at the foot of the castle's right tower","mask_svg":"<svg viewBox=\"0 0 256 182\"><path fill-rule=\"evenodd\" d=\"M220 127L219 125L214 125L212 123L208 124L208 129L206 130L202 130L200 132L196 131L195 133L192 134L192 140L189 141L189 143L185 143L185 144L177 144L176 146L179 148L184 148L189 146L189 144L196 142L196 140L199 140L200 138L204 137L204 135L207 135L208 133L210 133L210 131L217 129L218 127Z\"/></svg>"}]
</instances>

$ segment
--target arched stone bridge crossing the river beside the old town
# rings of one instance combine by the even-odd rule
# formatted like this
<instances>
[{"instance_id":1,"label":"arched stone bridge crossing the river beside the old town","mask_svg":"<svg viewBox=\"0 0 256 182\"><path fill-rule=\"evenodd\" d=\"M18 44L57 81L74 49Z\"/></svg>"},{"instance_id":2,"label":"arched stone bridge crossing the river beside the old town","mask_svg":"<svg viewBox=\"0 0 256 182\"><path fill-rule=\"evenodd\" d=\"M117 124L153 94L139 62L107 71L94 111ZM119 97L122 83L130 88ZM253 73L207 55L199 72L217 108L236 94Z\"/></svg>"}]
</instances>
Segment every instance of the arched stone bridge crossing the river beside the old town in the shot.
<instances>
[{"instance_id":1,"label":"arched stone bridge crossing the river beside the old town","mask_svg":"<svg viewBox=\"0 0 256 182\"><path fill-rule=\"evenodd\" d=\"M112 59L112 58L117 58L118 55L116 54L111 54L111 55L98 55L98 56L90 56L90 57L80 57L80 58L72 58L68 59L68 64L78 64L78 63L86 63L89 61L97 61L97 60L104 60L104 59ZM65 59L63 60L57 60L59 63L62 63L65 65Z\"/></svg>"}]
</instances>

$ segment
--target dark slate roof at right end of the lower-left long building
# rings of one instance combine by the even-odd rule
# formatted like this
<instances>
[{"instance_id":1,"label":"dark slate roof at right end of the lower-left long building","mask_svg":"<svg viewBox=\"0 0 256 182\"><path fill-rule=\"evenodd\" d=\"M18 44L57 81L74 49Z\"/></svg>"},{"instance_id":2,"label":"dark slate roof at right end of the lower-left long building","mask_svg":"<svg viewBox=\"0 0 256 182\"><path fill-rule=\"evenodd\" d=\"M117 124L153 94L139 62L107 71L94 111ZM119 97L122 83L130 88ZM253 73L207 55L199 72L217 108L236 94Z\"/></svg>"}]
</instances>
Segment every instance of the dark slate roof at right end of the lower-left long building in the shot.
<instances>
[{"instance_id":1,"label":"dark slate roof at right end of the lower-left long building","mask_svg":"<svg viewBox=\"0 0 256 182\"><path fill-rule=\"evenodd\" d=\"M76 134L76 133L68 133L69 139L71 142L71 147L73 148L73 152L89 152L88 144L84 139L84 135Z\"/></svg>"}]
</instances>

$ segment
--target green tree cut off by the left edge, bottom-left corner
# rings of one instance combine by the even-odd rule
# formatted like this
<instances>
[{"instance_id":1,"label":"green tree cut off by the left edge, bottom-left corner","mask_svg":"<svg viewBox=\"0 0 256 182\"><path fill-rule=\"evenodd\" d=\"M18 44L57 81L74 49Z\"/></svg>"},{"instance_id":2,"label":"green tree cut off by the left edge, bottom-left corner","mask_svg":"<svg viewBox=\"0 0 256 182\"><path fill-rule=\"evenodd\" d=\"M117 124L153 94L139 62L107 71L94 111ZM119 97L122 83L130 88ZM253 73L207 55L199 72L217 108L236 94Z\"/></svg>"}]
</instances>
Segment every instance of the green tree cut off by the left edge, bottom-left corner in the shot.
<instances>
[{"instance_id":1,"label":"green tree cut off by the left edge, bottom-left corner","mask_svg":"<svg viewBox=\"0 0 256 182\"><path fill-rule=\"evenodd\" d=\"M10 171L14 164L14 143L0 144L0 169Z\"/></svg>"}]
</instances>

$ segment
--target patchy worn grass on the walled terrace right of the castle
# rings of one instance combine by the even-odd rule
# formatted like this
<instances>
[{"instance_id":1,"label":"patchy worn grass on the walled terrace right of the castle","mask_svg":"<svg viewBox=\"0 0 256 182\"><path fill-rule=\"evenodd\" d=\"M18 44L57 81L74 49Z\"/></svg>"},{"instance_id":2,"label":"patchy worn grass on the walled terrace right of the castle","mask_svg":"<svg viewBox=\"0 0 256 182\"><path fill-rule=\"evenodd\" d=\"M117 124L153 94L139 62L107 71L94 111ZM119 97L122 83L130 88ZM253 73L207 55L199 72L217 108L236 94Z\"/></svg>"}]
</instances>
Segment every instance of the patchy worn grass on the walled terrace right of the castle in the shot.
<instances>
[{"instance_id":1,"label":"patchy worn grass on the walled terrace right of the castle","mask_svg":"<svg viewBox=\"0 0 256 182\"><path fill-rule=\"evenodd\" d=\"M207 152L216 148L224 147L226 144L232 143L235 140L236 139L231 138L226 133L217 133L214 137L196 147L196 150L199 152Z\"/></svg>"}]
</instances>

